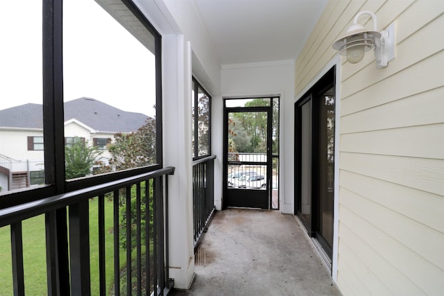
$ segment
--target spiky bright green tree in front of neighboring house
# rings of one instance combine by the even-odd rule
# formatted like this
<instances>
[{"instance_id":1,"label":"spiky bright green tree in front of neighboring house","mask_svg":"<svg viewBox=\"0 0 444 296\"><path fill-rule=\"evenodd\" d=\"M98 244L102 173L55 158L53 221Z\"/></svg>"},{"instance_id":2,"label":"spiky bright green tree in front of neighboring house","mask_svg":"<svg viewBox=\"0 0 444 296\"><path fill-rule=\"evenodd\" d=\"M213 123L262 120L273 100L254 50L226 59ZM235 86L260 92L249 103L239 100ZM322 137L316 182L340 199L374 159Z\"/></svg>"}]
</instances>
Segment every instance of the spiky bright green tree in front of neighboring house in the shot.
<instances>
[{"instance_id":1,"label":"spiky bright green tree in front of neighboring house","mask_svg":"<svg viewBox=\"0 0 444 296\"><path fill-rule=\"evenodd\" d=\"M85 177L89 175L92 166L99 161L101 151L87 146L86 141L75 138L71 146L65 146L65 176L66 179Z\"/></svg>"}]
</instances>

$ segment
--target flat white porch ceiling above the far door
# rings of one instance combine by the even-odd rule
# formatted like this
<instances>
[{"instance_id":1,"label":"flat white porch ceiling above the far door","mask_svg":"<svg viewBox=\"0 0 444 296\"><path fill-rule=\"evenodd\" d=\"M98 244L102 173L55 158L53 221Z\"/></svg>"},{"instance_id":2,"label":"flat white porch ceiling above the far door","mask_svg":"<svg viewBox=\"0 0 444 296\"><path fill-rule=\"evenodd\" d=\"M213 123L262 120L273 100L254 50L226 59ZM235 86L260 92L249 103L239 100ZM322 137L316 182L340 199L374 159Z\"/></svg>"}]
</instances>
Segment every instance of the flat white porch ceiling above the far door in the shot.
<instances>
[{"instance_id":1,"label":"flat white porch ceiling above the far door","mask_svg":"<svg viewBox=\"0 0 444 296\"><path fill-rule=\"evenodd\" d=\"M296 59L327 0L194 0L221 64Z\"/></svg>"}]
</instances>

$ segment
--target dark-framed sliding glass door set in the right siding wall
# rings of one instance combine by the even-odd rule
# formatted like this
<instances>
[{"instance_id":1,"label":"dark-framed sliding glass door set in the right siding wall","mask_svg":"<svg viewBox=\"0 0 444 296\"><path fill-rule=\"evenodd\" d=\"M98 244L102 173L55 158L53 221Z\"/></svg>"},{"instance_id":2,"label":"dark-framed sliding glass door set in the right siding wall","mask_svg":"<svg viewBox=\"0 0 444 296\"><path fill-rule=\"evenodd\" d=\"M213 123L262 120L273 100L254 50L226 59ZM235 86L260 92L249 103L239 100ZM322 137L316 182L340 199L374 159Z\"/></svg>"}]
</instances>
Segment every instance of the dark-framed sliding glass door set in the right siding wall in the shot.
<instances>
[{"instance_id":1,"label":"dark-framed sliding glass door set in the right siding wall","mask_svg":"<svg viewBox=\"0 0 444 296\"><path fill-rule=\"evenodd\" d=\"M334 204L334 69L295 104L295 213L332 258Z\"/></svg>"}]
</instances>

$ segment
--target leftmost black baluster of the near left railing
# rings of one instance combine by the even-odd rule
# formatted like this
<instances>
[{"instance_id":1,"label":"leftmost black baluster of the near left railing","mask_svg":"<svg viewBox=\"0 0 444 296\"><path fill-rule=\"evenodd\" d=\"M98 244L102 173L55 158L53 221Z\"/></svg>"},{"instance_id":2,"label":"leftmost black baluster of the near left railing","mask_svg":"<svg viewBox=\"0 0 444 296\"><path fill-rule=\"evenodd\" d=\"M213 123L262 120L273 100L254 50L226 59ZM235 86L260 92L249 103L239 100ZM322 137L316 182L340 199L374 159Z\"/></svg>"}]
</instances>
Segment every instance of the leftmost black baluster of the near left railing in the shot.
<instances>
[{"instance_id":1,"label":"leftmost black baluster of the near left railing","mask_svg":"<svg viewBox=\"0 0 444 296\"><path fill-rule=\"evenodd\" d=\"M22 221L11 224L12 283L14 295L25 295Z\"/></svg>"}]
</instances>

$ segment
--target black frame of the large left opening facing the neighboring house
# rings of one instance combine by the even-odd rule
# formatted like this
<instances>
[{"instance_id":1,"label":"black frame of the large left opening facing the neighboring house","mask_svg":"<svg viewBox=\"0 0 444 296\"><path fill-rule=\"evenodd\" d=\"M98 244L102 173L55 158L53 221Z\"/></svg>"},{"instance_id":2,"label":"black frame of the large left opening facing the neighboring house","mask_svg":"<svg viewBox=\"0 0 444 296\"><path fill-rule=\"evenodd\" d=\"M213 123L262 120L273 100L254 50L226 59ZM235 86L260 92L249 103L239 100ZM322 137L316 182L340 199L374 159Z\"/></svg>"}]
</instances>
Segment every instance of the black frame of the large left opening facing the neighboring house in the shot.
<instances>
[{"instance_id":1,"label":"black frame of the large left opening facing the neighboring house","mask_svg":"<svg viewBox=\"0 0 444 296\"><path fill-rule=\"evenodd\" d=\"M0 193L0 209L67 193L125 177L155 171L162 161L162 36L131 0L121 0L155 38L156 160L150 166L96 175L83 180L65 180L65 119L63 100L62 0L42 0L42 77L45 184L23 191ZM130 54L130 53L128 53ZM49 169L50 168L50 169Z\"/></svg>"}]
</instances>

